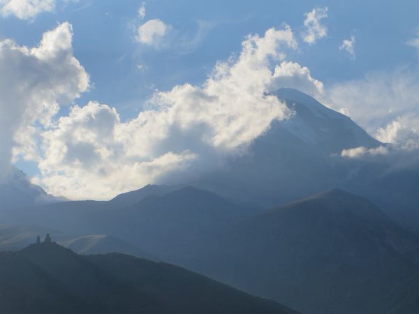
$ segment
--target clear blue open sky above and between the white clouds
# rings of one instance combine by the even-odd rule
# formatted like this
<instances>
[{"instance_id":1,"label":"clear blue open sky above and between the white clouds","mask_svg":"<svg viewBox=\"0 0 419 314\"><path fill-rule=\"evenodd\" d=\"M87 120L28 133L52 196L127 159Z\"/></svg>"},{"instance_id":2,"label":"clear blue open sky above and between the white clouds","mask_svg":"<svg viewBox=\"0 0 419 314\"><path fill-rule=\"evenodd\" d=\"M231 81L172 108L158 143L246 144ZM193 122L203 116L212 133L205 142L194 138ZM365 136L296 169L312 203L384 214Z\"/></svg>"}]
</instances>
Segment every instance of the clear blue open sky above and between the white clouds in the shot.
<instances>
[{"instance_id":1,"label":"clear blue open sky above and between the white clouds","mask_svg":"<svg viewBox=\"0 0 419 314\"><path fill-rule=\"evenodd\" d=\"M171 24L179 38L193 40L199 22L209 24L193 47L154 50L135 42L133 27L142 1L80 0L57 4L54 13L34 20L16 17L0 20L1 36L33 46L57 22L73 25L74 55L86 68L94 88L77 100L98 100L118 108L122 117L133 117L154 89L175 84L200 84L214 63L240 51L249 33L289 24L302 31L303 13L328 7L328 36L316 45L303 44L290 59L307 66L325 83L360 78L373 70L416 64L417 51L406 45L416 35L418 1L146 1L144 21L160 19ZM356 38L356 59L339 45ZM141 63L145 67L138 70Z\"/></svg>"}]
</instances>

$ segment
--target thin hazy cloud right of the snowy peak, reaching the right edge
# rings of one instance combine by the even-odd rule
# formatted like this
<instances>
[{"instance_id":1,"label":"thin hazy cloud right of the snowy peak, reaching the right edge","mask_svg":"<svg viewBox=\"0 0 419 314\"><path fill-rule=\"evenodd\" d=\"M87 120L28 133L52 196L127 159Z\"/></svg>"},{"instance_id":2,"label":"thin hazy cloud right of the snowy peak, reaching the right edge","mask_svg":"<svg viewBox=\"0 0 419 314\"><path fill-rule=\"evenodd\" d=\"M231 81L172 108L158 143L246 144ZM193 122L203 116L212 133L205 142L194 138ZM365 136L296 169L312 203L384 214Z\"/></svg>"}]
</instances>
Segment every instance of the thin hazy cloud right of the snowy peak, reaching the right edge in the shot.
<instances>
[{"instance_id":1,"label":"thin hazy cloud right of the snowy peak, reaching the right edge","mask_svg":"<svg viewBox=\"0 0 419 314\"><path fill-rule=\"evenodd\" d=\"M330 87L326 100L382 142L419 143L419 76L407 69L371 73Z\"/></svg>"}]
</instances>

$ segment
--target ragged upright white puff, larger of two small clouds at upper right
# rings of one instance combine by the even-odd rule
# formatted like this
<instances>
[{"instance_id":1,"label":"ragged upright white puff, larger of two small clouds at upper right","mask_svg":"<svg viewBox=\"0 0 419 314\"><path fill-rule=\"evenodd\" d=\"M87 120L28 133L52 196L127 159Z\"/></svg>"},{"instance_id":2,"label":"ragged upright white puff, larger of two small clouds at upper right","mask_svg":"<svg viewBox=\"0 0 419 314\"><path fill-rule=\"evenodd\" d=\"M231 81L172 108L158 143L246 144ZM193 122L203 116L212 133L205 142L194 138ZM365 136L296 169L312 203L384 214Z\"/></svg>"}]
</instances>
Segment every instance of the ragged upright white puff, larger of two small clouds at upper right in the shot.
<instances>
[{"instance_id":1,"label":"ragged upright white puff, larger of two small clouds at upper right","mask_svg":"<svg viewBox=\"0 0 419 314\"><path fill-rule=\"evenodd\" d=\"M305 31L302 38L306 43L314 44L320 38L328 35L328 28L321 24L321 20L328 17L328 8L314 8L309 13L304 13Z\"/></svg>"}]
</instances>

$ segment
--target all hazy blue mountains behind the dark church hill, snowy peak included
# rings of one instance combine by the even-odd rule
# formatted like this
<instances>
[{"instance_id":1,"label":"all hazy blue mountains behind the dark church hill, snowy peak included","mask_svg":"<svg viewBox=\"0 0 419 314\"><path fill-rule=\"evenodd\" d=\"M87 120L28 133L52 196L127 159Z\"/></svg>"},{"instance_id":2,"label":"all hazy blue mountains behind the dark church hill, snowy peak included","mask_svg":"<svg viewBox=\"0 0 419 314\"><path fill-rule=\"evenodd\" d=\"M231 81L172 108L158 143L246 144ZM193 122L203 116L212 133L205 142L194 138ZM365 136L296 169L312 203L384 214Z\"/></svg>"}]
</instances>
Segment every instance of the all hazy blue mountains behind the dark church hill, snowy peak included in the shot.
<instances>
[{"instance_id":1,"label":"all hazy blue mountains behind the dark church hill, snowy peak included","mask_svg":"<svg viewBox=\"0 0 419 314\"><path fill-rule=\"evenodd\" d=\"M0 219L10 224L0 226L0 249L51 232L78 253L165 260L304 314L418 313L419 165L343 158L343 149L391 146L300 91L276 95L291 119L182 186L47 204L27 179L0 186ZM107 256L117 256L109 267L131 265Z\"/></svg>"}]
</instances>

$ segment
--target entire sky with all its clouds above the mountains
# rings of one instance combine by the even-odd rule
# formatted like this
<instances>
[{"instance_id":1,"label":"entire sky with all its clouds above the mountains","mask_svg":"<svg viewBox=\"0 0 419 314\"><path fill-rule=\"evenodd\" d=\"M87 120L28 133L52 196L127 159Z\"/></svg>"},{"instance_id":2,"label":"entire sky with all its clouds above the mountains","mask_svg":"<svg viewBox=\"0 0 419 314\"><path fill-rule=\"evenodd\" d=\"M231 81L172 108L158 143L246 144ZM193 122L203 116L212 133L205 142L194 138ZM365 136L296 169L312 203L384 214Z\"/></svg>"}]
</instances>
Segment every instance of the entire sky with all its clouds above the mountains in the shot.
<instances>
[{"instance_id":1,"label":"entire sky with all its clouds above the mountains","mask_svg":"<svg viewBox=\"0 0 419 314\"><path fill-rule=\"evenodd\" d=\"M418 13L410 0L0 0L0 173L108 199L209 171L291 117L267 96L281 87L415 149Z\"/></svg>"}]
</instances>

